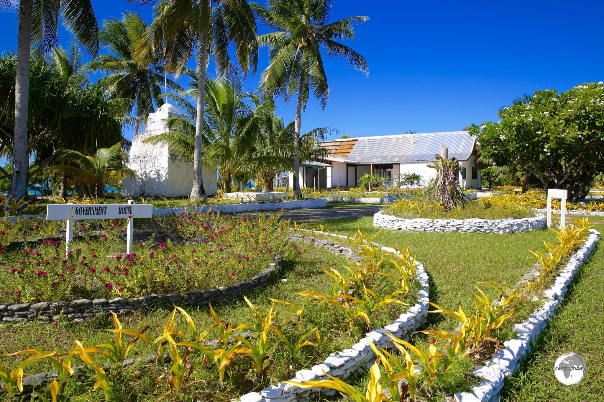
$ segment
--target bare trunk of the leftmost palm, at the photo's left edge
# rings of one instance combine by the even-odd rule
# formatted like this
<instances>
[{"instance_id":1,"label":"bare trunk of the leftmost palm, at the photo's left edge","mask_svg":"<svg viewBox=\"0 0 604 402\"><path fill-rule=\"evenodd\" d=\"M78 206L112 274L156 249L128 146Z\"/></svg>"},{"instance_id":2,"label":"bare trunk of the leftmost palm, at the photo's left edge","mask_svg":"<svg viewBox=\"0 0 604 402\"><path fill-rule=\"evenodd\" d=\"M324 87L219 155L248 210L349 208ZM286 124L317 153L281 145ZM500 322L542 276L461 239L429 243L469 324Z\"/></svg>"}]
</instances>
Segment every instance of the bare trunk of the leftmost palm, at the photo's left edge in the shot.
<instances>
[{"instance_id":1,"label":"bare trunk of the leftmost palm, at the photo's left edge","mask_svg":"<svg viewBox=\"0 0 604 402\"><path fill-rule=\"evenodd\" d=\"M13 177L10 195L21 199L27 195L27 108L30 98L31 11L33 0L19 2L17 73L14 82Z\"/></svg>"}]
</instances>

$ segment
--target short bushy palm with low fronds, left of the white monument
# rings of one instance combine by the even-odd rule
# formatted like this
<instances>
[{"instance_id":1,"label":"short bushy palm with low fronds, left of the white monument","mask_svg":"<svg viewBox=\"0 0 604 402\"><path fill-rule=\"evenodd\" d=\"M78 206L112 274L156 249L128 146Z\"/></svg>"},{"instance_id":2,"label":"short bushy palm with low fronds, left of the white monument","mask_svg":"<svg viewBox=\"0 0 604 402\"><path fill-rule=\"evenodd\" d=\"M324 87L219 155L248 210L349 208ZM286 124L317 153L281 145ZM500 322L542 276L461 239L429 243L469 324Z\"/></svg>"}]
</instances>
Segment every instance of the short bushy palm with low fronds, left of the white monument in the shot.
<instances>
[{"instance_id":1,"label":"short bushy palm with low fronds, left of the white monument","mask_svg":"<svg viewBox=\"0 0 604 402\"><path fill-rule=\"evenodd\" d=\"M136 180L135 172L124 167L128 155L124 151L123 144L117 143L111 148L100 148L94 156L86 156L78 151L67 149L60 152L60 159L70 161L78 166L61 164L48 168L50 173L61 173L69 180L71 185L83 184L85 193L89 196L102 197L105 186L119 186L124 177L132 177Z\"/></svg>"}]
</instances>

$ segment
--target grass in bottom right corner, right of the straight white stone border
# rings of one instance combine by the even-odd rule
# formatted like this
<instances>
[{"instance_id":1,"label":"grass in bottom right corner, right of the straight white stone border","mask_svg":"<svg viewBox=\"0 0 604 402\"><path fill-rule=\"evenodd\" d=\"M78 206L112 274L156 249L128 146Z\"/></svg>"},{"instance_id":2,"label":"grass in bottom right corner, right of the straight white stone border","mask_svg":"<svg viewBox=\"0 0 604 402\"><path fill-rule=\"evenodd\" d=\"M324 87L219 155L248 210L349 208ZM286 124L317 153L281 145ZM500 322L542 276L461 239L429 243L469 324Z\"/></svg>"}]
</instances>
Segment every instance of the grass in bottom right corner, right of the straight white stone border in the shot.
<instances>
[{"instance_id":1,"label":"grass in bottom right corner, right of the straight white stone border","mask_svg":"<svg viewBox=\"0 0 604 402\"><path fill-rule=\"evenodd\" d=\"M590 218L604 233L604 218ZM502 400L599 401L604 395L604 248L598 245L590 260L573 281L558 313L548 322L544 334L522 369L510 377ZM583 357L586 373L574 385L554 377L556 358L567 352Z\"/></svg>"}]
</instances>

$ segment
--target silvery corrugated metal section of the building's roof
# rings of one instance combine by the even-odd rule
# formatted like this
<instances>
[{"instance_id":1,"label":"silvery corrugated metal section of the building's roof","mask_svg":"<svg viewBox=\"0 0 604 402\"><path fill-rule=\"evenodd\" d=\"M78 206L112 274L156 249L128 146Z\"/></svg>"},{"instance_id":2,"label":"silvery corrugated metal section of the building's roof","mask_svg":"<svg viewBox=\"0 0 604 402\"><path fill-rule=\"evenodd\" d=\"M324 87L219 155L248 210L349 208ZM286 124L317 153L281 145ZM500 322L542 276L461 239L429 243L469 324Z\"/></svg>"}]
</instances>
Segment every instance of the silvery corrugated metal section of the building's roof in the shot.
<instances>
[{"instance_id":1,"label":"silvery corrugated metal section of the building's roof","mask_svg":"<svg viewBox=\"0 0 604 402\"><path fill-rule=\"evenodd\" d=\"M468 131L450 131L381 135L356 140L355 148L342 159L353 163L399 163L433 161L441 144L449 149L449 158L467 160L474 150L475 137Z\"/></svg>"}]
</instances>

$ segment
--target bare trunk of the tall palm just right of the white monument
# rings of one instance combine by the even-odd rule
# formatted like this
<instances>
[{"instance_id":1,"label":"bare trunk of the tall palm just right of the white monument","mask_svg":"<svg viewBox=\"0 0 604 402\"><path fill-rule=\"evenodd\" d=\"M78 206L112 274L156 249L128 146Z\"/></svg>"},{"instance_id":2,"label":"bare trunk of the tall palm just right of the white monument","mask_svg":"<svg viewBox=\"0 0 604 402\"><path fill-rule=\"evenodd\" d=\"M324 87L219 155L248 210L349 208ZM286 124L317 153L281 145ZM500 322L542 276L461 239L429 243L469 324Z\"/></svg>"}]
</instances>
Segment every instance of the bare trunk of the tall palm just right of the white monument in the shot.
<instances>
[{"instance_id":1,"label":"bare trunk of the tall palm just right of the white monument","mask_svg":"<svg viewBox=\"0 0 604 402\"><path fill-rule=\"evenodd\" d=\"M204 30L199 43L199 73L197 84L197 122L195 126L195 150L193 154L193 189L191 189L191 198L207 199L204 189L203 168L201 164L202 157L202 137L204 133L204 89L205 89L205 70L208 61L208 30ZM226 190L226 189L223 189ZM226 192L226 191L225 191Z\"/></svg>"}]
</instances>

